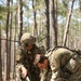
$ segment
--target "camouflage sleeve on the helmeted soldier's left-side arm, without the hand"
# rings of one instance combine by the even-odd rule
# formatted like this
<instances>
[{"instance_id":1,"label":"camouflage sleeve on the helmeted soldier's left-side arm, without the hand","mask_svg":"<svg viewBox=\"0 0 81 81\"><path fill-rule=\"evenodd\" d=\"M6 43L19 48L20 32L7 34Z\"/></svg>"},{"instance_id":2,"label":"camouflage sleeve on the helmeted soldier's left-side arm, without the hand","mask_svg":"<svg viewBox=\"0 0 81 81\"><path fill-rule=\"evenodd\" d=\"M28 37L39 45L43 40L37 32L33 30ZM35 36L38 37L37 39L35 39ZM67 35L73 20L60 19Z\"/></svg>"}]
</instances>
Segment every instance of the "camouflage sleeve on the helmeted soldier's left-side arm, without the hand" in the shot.
<instances>
[{"instance_id":1,"label":"camouflage sleeve on the helmeted soldier's left-side arm, without the hand","mask_svg":"<svg viewBox=\"0 0 81 81\"><path fill-rule=\"evenodd\" d=\"M24 67L23 56L22 56L22 50L21 48L18 48L15 54L15 80L16 81L21 81L22 67Z\"/></svg>"}]
</instances>

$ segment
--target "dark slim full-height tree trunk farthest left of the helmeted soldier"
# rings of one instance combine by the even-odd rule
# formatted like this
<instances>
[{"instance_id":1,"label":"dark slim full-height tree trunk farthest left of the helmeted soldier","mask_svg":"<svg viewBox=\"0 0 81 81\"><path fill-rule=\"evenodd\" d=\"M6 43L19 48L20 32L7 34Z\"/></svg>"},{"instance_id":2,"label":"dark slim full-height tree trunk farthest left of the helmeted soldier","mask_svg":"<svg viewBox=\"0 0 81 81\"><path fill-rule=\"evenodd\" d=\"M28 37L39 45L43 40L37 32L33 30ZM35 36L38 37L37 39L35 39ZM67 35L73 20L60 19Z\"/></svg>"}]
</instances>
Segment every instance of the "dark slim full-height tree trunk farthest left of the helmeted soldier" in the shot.
<instances>
[{"instance_id":1,"label":"dark slim full-height tree trunk farthest left of the helmeted soldier","mask_svg":"<svg viewBox=\"0 0 81 81\"><path fill-rule=\"evenodd\" d=\"M10 79L10 52L9 52L9 19L10 19L10 0L6 0L8 14L6 14L6 80Z\"/></svg>"}]
</instances>

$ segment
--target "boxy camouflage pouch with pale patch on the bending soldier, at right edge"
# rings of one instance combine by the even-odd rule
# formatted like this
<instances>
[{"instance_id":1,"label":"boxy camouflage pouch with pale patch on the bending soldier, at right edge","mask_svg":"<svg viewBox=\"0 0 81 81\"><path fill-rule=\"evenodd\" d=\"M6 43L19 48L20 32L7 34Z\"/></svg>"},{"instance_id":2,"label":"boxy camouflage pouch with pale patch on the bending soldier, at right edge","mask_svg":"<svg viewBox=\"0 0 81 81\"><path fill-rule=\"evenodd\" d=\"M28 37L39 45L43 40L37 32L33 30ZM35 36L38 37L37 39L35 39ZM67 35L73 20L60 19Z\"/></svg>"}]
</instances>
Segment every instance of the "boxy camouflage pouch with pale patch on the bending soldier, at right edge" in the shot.
<instances>
[{"instance_id":1,"label":"boxy camouflage pouch with pale patch on the bending soldier, at right edge","mask_svg":"<svg viewBox=\"0 0 81 81\"><path fill-rule=\"evenodd\" d=\"M65 66L69 71L75 73L81 67L81 55L73 55Z\"/></svg>"}]
</instances>

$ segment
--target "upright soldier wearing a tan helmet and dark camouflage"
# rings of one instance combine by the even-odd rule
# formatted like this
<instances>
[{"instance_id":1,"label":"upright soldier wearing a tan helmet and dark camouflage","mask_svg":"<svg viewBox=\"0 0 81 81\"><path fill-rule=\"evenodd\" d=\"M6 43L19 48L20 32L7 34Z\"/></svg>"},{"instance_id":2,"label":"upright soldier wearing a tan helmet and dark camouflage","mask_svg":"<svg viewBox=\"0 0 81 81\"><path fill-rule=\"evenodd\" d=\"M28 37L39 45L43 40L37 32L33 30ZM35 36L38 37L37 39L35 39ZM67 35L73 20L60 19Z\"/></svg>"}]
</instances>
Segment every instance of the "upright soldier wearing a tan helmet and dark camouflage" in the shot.
<instances>
[{"instance_id":1,"label":"upright soldier wearing a tan helmet and dark camouflage","mask_svg":"<svg viewBox=\"0 0 81 81\"><path fill-rule=\"evenodd\" d=\"M39 69L33 66L35 56L37 53L44 54L43 46L36 45L36 39L30 33L26 32L21 38L21 46L16 52L16 81L25 81L26 77L30 81L39 81Z\"/></svg>"}]
</instances>

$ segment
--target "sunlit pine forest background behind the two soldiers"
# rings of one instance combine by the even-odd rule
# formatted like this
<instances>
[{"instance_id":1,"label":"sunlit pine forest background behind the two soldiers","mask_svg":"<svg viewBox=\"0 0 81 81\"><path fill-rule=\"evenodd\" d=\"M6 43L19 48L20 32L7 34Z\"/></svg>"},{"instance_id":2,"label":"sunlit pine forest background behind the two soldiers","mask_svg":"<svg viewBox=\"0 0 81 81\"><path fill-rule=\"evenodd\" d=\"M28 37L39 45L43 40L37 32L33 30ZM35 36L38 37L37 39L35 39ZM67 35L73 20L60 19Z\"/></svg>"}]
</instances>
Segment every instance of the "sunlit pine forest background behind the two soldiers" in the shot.
<instances>
[{"instance_id":1,"label":"sunlit pine forest background behind the two soldiers","mask_svg":"<svg viewBox=\"0 0 81 81\"><path fill-rule=\"evenodd\" d=\"M0 0L0 81L15 79L15 52L24 32L45 50L81 50L81 0Z\"/></svg>"}]
</instances>

